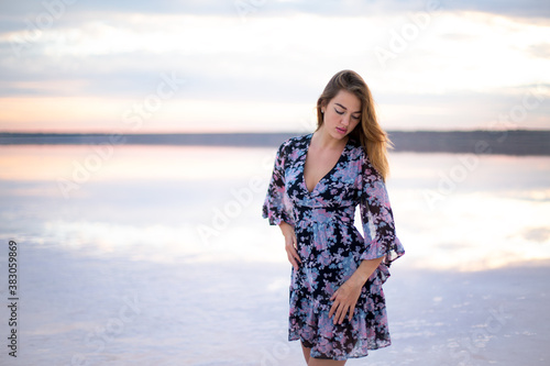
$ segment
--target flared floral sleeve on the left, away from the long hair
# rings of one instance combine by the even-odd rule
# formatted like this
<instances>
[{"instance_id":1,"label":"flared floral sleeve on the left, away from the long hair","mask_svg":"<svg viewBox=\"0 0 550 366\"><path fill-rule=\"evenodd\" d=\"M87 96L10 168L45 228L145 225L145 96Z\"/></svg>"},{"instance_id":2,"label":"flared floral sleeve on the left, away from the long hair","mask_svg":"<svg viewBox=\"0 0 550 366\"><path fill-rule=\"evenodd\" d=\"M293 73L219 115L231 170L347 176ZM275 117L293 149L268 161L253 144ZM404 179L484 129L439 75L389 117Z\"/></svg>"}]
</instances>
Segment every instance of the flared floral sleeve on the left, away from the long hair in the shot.
<instances>
[{"instance_id":1,"label":"flared floral sleeve on the left, away from the long hair","mask_svg":"<svg viewBox=\"0 0 550 366\"><path fill-rule=\"evenodd\" d=\"M271 225L286 222L294 226L292 207L285 191L285 163L287 160L288 142L280 145L275 157L273 175L267 187L262 215Z\"/></svg>"}]
</instances>

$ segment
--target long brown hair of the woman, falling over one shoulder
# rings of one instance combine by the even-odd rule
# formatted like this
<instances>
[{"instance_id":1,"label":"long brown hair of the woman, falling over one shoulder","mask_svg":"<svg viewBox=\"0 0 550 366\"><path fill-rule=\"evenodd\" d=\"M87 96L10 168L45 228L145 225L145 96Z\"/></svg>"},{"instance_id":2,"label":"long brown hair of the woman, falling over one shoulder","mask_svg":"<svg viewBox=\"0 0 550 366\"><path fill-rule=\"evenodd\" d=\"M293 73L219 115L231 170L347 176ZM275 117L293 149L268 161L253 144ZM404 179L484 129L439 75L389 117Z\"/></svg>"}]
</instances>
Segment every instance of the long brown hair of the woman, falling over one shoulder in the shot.
<instances>
[{"instance_id":1,"label":"long brown hair of the woman, falling over one shoulder","mask_svg":"<svg viewBox=\"0 0 550 366\"><path fill-rule=\"evenodd\" d=\"M378 124L371 90L359 74L352 70L342 70L327 84L319 100L317 100L317 130L322 125L321 108L326 107L340 90L355 95L361 101L361 122L350 136L355 137L361 143L372 165L385 180L389 175L387 147L393 145L386 132Z\"/></svg>"}]
</instances>

